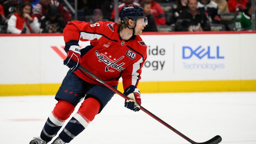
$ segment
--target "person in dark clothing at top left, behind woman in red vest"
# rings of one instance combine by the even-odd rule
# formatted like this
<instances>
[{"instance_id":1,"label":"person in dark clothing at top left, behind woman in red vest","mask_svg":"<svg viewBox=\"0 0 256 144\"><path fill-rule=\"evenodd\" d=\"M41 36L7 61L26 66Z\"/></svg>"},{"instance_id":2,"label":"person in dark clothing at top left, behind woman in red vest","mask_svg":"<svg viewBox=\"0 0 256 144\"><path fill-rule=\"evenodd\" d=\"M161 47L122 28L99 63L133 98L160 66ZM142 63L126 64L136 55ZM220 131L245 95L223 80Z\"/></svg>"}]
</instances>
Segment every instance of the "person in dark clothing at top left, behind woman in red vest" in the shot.
<instances>
[{"instance_id":1,"label":"person in dark clothing at top left, behind woman in red vest","mask_svg":"<svg viewBox=\"0 0 256 144\"><path fill-rule=\"evenodd\" d=\"M7 19L9 19L12 14L16 13L19 3L19 0L10 0L3 3L4 14Z\"/></svg>"}]
</instances>

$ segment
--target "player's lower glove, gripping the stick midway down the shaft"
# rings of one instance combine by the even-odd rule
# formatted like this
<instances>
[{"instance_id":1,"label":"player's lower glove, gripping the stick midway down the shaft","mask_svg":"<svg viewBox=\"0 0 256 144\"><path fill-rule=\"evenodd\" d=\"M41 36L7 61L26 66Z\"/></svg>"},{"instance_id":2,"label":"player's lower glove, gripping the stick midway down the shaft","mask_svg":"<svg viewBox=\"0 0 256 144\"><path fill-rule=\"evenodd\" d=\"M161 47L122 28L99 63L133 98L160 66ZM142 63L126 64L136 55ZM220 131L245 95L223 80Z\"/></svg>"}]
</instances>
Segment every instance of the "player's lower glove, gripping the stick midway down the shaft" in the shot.
<instances>
[{"instance_id":1,"label":"player's lower glove, gripping the stick midway down the shaft","mask_svg":"<svg viewBox=\"0 0 256 144\"><path fill-rule=\"evenodd\" d=\"M140 98L140 91L135 86L131 85L124 90L124 95L130 98L130 100L125 100L124 107L133 110L139 111L141 98Z\"/></svg>"}]
</instances>

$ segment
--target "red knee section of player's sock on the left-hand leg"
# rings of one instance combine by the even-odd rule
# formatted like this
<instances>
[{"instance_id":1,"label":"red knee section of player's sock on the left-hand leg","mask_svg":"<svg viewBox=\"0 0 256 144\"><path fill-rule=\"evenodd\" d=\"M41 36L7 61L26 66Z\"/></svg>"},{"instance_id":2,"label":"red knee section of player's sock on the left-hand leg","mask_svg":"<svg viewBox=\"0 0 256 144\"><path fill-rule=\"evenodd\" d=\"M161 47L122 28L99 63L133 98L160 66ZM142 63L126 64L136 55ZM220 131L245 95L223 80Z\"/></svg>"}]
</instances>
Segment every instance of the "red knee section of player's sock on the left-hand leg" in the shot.
<instances>
[{"instance_id":1,"label":"red knee section of player's sock on the left-hand leg","mask_svg":"<svg viewBox=\"0 0 256 144\"><path fill-rule=\"evenodd\" d=\"M59 100L53 109L53 115L60 120L67 120L72 112L75 110L75 106L68 101Z\"/></svg>"}]
</instances>

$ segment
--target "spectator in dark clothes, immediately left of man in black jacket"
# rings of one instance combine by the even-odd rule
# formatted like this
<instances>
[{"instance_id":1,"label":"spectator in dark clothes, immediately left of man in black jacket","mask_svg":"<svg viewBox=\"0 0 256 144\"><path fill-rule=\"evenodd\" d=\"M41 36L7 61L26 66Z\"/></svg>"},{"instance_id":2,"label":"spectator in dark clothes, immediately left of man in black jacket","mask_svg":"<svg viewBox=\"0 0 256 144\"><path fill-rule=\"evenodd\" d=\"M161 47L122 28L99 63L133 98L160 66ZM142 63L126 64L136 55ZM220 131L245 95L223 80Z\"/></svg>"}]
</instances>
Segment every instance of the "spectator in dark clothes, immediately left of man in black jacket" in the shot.
<instances>
[{"instance_id":1,"label":"spectator in dark clothes, immediately left of man in black jacket","mask_svg":"<svg viewBox=\"0 0 256 144\"><path fill-rule=\"evenodd\" d=\"M174 24L181 12L188 8L188 0L176 0L177 8L173 10L173 16L171 23Z\"/></svg>"}]
</instances>

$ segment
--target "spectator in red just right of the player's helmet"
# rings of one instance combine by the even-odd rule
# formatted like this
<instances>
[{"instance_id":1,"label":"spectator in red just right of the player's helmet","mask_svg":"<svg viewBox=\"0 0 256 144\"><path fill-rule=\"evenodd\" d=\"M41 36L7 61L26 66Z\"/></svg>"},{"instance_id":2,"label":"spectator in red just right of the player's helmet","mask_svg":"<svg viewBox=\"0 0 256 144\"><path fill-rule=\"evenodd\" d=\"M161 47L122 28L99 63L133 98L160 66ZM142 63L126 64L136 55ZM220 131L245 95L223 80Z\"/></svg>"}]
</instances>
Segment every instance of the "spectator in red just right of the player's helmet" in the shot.
<instances>
[{"instance_id":1,"label":"spectator in red just right of the player's helmet","mask_svg":"<svg viewBox=\"0 0 256 144\"><path fill-rule=\"evenodd\" d=\"M151 14L154 16L156 25L165 25L166 19L164 17L164 11L161 5L153 0L144 0L151 3Z\"/></svg>"}]
</instances>

